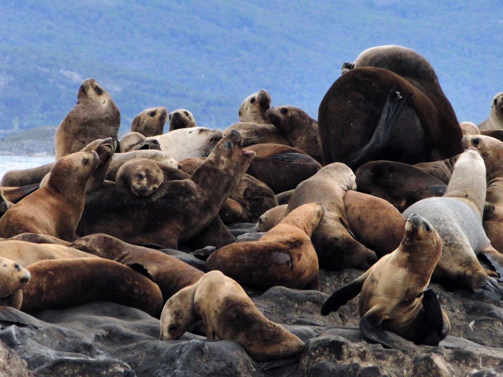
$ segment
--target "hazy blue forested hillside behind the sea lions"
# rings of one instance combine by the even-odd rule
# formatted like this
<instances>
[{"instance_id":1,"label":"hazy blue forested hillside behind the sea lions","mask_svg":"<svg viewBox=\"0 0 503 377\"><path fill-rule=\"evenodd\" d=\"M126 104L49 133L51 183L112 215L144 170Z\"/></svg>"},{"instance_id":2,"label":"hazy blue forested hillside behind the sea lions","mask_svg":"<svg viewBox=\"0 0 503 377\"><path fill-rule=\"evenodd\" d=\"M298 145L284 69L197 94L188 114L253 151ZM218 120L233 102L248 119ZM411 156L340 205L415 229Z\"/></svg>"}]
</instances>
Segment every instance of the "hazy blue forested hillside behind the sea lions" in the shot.
<instances>
[{"instance_id":1,"label":"hazy blue forested hillside behind the sea lions","mask_svg":"<svg viewBox=\"0 0 503 377\"><path fill-rule=\"evenodd\" d=\"M165 106L223 128L262 88L273 106L317 118L341 64L383 44L425 55L459 120L478 123L503 90L501 9L501 0L4 0L0 130L58 125L87 77L110 92L123 127Z\"/></svg>"}]
</instances>

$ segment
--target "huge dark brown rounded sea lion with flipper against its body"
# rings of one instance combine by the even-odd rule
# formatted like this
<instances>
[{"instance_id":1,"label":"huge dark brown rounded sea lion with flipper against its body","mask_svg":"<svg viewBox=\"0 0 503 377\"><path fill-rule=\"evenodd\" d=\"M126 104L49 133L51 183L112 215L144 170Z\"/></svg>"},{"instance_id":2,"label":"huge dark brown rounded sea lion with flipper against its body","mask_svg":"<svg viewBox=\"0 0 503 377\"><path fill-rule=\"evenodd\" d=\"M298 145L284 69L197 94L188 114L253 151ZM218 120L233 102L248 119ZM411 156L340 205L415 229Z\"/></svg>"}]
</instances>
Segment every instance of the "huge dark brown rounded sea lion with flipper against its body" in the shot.
<instances>
[{"instance_id":1,"label":"huge dark brown rounded sea lion with flipper against its body","mask_svg":"<svg viewBox=\"0 0 503 377\"><path fill-rule=\"evenodd\" d=\"M452 107L435 102L443 93L428 93L382 68L354 68L339 77L318 111L323 162L356 169L375 160L415 164L461 153Z\"/></svg>"}]
</instances>

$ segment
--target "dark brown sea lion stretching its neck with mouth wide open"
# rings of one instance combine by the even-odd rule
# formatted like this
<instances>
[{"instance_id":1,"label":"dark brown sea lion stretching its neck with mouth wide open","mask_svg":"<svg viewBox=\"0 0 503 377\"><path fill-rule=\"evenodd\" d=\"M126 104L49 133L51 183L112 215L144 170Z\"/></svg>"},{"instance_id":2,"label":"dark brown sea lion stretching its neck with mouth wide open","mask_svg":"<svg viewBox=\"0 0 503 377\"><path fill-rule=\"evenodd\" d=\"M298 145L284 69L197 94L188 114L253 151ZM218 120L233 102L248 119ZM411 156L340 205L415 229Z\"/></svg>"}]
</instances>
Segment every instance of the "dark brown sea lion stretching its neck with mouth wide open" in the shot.
<instances>
[{"instance_id":1,"label":"dark brown sea lion stretching its neck with mouth wide open","mask_svg":"<svg viewBox=\"0 0 503 377\"><path fill-rule=\"evenodd\" d=\"M208 227L254 157L243 152L241 135L232 131L190 178L164 181L146 198L115 187L88 195L77 233L177 249Z\"/></svg>"}]
</instances>

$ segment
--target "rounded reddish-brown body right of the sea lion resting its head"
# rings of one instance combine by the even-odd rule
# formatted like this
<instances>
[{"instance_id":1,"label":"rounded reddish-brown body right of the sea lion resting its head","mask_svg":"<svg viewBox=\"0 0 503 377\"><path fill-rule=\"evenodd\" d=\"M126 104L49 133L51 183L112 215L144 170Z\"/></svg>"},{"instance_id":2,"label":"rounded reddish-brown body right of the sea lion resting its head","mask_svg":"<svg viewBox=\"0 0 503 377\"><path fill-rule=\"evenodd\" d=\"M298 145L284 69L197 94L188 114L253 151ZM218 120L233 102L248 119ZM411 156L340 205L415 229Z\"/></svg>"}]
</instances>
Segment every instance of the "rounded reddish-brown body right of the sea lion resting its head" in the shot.
<instances>
[{"instance_id":1,"label":"rounded reddish-brown body right of the sea lion resting its head","mask_svg":"<svg viewBox=\"0 0 503 377\"><path fill-rule=\"evenodd\" d=\"M378 258L400 245L405 218L392 204L372 195L348 190L344 196L344 209L355 238L373 250Z\"/></svg>"}]
</instances>

